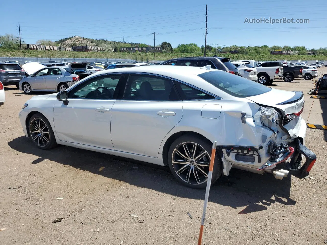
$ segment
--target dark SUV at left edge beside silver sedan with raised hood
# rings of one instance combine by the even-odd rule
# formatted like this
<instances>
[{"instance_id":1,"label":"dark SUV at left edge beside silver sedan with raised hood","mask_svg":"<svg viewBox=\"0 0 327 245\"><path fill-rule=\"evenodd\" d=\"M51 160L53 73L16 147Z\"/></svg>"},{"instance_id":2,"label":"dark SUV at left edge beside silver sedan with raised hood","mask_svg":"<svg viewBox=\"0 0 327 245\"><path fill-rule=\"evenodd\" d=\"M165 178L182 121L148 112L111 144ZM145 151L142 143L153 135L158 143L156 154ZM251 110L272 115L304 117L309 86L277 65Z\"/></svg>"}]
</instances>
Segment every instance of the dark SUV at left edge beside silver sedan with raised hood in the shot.
<instances>
[{"instance_id":1,"label":"dark SUV at left edge beside silver sedan with raised hood","mask_svg":"<svg viewBox=\"0 0 327 245\"><path fill-rule=\"evenodd\" d=\"M0 82L4 86L16 85L25 77L25 72L16 63L0 63Z\"/></svg>"}]
</instances>

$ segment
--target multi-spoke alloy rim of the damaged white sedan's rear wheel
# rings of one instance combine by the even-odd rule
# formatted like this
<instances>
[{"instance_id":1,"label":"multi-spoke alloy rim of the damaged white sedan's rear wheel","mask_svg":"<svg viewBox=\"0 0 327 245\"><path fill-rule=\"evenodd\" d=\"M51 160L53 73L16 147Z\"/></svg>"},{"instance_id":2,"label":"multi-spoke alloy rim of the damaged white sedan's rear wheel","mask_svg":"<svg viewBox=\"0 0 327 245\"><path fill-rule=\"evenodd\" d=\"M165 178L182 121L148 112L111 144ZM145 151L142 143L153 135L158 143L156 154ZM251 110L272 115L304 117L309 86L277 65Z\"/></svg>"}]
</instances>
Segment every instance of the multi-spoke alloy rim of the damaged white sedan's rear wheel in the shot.
<instances>
[{"instance_id":1,"label":"multi-spoke alloy rim of the damaged white sedan's rear wheel","mask_svg":"<svg viewBox=\"0 0 327 245\"><path fill-rule=\"evenodd\" d=\"M198 185L208 179L210 158L201 145L183 142L175 147L171 161L174 171L183 181Z\"/></svg>"}]
</instances>

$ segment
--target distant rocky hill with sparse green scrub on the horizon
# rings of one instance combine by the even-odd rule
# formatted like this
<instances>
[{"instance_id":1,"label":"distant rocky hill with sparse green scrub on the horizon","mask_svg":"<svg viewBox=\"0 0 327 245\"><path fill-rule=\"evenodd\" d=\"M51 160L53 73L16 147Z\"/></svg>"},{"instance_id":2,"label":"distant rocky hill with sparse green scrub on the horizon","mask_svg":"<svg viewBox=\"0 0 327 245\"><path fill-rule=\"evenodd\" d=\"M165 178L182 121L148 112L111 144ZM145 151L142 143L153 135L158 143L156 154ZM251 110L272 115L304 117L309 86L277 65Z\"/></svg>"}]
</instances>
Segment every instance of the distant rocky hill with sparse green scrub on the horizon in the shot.
<instances>
[{"instance_id":1,"label":"distant rocky hill with sparse green scrub on the horizon","mask_svg":"<svg viewBox=\"0 0 327 245\"><path fill-rule=\"evenodd\" d=\"M109 41L109 40L105 40L105 39L84 38L84 37L79 37L79 36L62 38L55 42L60 44L60 46L64 46L64 47L82 46L82 45L100 46L100 47L104 47L104 48L137 47L137 46L148 47L149 46L144 43L117 42L117 41Z\"/></svg>"}]
</instances>

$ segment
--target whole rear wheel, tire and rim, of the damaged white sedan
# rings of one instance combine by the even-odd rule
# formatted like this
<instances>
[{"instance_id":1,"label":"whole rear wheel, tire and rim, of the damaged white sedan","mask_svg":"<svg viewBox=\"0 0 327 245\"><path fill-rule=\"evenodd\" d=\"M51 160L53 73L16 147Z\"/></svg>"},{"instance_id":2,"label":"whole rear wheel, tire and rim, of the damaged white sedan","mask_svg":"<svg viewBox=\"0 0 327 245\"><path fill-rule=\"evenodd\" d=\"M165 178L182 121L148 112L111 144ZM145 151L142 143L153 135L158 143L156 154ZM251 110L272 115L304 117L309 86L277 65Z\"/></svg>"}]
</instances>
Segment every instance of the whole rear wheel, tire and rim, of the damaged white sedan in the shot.
<instances>
[{"instance_id":1,"label":"whole rear wheel, tire and rim, of the damaged white sedan","mask_svg":"<svg viewBox=\"0 0 327 245\"><path fill-rule=\"evenodd\" d=\"M206 140L187 134L176 139L168 151L169 169L183 185L191 188L205 188L208 180L212 145ZM222 173L222 163L215 156L211 183Z\"/></svg>"}]
</instances>

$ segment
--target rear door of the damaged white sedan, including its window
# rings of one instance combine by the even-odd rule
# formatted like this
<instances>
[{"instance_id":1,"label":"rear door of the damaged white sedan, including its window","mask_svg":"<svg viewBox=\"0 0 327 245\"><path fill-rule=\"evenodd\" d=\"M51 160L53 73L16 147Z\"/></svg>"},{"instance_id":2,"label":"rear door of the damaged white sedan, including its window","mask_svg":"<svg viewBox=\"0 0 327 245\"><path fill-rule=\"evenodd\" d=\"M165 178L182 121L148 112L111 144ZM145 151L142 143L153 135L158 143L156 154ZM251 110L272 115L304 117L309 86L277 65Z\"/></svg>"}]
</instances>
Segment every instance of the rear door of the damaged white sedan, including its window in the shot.
<instances>
[{"instance_id":1,"label":"rear door of the damaged white sedan, including its window","mask_svg":"<svg viewBox=\"0 0 327 245\"><path fill-rule=\"evenodd\" d=\"M123 99L112 107L114 149L158 157L164 137L183 115L183 102L170 78L131 73Z\"/></svg>"}]
</instances>

